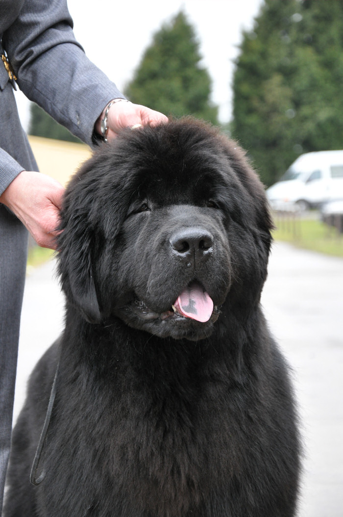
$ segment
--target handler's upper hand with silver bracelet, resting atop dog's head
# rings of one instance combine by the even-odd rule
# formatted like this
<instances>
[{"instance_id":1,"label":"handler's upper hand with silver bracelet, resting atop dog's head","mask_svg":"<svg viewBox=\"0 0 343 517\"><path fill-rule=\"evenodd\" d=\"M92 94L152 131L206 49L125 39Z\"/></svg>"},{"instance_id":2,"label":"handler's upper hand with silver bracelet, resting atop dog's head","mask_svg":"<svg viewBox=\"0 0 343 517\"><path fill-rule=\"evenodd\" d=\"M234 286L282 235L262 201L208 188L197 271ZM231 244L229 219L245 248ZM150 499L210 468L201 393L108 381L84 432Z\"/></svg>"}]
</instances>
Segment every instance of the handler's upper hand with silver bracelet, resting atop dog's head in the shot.
<instances>
[{"instance_id":1,"label":"handler's upper hand with silver bracelet, resting atop dog's head","mask_svg":"<svg viewBox=\"0 0 343 517\"><path fill-rule=\"evenodd\" d=\"M108 112L106 115L107 109ZM133 128L145 126L146 124L155 126L168 121L168 118L163 115L163 113L146 108L141 104L133 104L124 99L116 99L115 102L107 104L95 126L96 132L99 135L102 135L101 123L105 117L105 125L108 128L105 134L107 140L113 140L118 136L120 131L127 127Z\"/></svg>"}]
</instances>

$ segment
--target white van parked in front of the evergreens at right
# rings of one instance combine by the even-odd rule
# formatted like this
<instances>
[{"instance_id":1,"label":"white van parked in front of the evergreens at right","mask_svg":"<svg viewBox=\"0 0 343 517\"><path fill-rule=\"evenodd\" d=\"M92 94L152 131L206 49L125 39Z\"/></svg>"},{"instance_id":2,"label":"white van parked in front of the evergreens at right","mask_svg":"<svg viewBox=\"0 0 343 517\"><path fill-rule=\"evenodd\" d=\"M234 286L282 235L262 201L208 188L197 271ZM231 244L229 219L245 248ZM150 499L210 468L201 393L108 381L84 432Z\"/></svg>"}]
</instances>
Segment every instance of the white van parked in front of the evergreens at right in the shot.
<instances>
[{"instance_id":1,"label":"white van parked in front of the evergreens at right","mask_svg":"<svg viewBox=\"0 0 343 517\"><path fill-rule=\"evenodd\" d=\"M343 200L343 150L299 156L266 192L274 210L305 210Z\"/></svg>"}]
</instances>

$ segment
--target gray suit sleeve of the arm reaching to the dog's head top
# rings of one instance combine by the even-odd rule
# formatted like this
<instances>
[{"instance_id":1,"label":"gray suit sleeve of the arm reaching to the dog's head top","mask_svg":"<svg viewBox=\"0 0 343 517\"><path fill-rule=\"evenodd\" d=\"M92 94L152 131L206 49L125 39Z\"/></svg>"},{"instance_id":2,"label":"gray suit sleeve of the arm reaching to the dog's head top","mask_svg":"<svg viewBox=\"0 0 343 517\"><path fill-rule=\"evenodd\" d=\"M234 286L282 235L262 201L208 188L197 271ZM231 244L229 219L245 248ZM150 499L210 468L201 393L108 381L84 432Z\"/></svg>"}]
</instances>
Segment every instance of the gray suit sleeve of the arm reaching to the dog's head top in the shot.
<instances>
[{"instance_id":1,"label":"gray suit sleeve of the arm reaching to the dog's head top","mask_svg":"<svg viewBox=\"0 0 343 517\"><path fill-rule=\"evenodd\" d=\"M124 96L85 56L72 26L65 0L25 0L4 46L22 92L92 145L105 105Z\"/></svg>"}]
</instances>

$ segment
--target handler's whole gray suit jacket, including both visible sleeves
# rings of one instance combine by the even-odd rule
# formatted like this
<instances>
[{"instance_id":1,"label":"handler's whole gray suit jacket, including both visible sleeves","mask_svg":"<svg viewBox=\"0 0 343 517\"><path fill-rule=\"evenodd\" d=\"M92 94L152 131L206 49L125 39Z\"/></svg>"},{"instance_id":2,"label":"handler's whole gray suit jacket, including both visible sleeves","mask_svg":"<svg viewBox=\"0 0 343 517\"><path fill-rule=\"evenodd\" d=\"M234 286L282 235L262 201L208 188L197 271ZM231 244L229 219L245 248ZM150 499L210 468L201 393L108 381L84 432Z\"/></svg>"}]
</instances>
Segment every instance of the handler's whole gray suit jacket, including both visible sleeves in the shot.
<instances>
[{"instance_id":1,"label":"handler's whole gray suit jacket, including both visible sleeves","mask_svg":"<svg viewBox=\"0 0 343 517\"><path fill-rule=\"evenodd\" d=\"M92 145L105 105L124 96L87 59L72 27L66 0L0 0L0 38L20 89ZM0 194L24 169L37 170L37 164L0 61Z\"/></svg>"}]
</instances>

